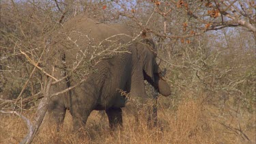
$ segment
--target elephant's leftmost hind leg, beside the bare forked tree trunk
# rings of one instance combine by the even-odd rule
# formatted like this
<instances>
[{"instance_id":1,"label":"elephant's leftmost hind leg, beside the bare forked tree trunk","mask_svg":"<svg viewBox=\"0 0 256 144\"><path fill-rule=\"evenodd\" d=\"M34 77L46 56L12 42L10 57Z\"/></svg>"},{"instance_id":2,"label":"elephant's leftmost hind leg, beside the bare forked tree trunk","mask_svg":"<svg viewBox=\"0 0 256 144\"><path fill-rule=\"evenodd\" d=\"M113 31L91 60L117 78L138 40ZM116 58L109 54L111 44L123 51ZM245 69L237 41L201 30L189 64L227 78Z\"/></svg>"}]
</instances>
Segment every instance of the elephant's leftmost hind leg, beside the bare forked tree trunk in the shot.
<instances>
[{"instance_id":1,"label":"elephant's leftmost hind leg, beside the bare forked tree trunk","mask_svg":"<svg viewBox=\"0 0 256 144\"><path fill-rule=\"evenodd\" d=\"M63 124L63 120L66 115L66 110L67 108L64 102L59 98L51 100L48 105L50 119L54 119L55 123L57 124L57 131L59 131L61 124Z\"/></svg>"}]
</instances>

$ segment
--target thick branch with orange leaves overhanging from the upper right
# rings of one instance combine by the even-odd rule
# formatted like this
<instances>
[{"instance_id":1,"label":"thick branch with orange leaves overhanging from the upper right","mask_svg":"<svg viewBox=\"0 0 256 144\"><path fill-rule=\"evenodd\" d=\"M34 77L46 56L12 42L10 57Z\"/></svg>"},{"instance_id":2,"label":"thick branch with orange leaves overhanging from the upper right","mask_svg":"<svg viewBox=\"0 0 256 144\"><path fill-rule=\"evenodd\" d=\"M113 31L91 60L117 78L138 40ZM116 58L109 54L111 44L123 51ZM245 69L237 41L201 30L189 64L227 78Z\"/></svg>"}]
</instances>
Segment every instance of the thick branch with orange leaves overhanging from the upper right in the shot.
<instances>
[{"instance_id":1,"label":"thick branch with orange leaves overhanging from the upper right","mask_svg":"<svg viewBox=\"0 0 256 144\"><path fill-rule=\"evenodd\" d=\"M179 3L179 2L171 1L171 3L173 3L173 5L176 5L176 3ZM119 15L126 16L126 17L134 20L134 22L137 23L137 25L141 29L147 29L147 32L154 33L154 35L156 35L160 38L169 38L169 39L191 38L191 37L195 37L197 35L202 35L206 31L219 30L219 29L223 29L225 27L238 27L238 26L246 27L249 30L256 33L255 25L252 25L251 23L246 22L246 20L243 20L242 18L240 18L240 16L232 16L231 14L229 14L229 12L227 12L227 10L229 10L229 8L235 8L235 10L238 11L241 16L249 18L251 21L254 21L254 23L256 23L256 21L253 20L250 16L248 16L248 14L246 15L241 10L238 10L238 8L236 7L236 4L235 4L236 1L232 1L232 2L229 1L229 3L230 3L229 5L225 1L221 1L221 3L223 3L226 6L226 8L224 10L223 10L223 8L221 9L221 6L223 6L223 5L220 5L221 3L217 3L215 0L214 0L214 3L215 3L214 7L216 9L218 9L218 12L220 12L220 14L221 14L221 23L219 23L216 20L212 21L210 19L208 20L208 18L205 19L205 16L196 16L194 12L190 12L189 5L186 5L186 7L185 6L182 7L182 10L186 11L188 15L192 16L196 20L199 20L199 22L201 22L202 25L209 25L208 27L205 27L204 29L201 29L200 31L190 33L190 34L183 34L183 35L170 35L170 34L167 34L166 31L164 31L164 33L162 34L162 33L159 33L158 31L150 29L150 27L146 27L146 25L147 25L147 23L149 23L151 16L150 16L149 20L147 20L147 23L145 25L143 25L143 23L141 22L141 20L139 20L139 18L135 17L134 14L128 13L128 10L126 7L124 7L124 5L121 5L119 3L117 3L117 5L122 7L122 9L124 10L124 12L119 12ZM198 5L198 8L199 7L200 7L200 5ZM173 9L175 9L175 8L173 8ZM160 16L162 16L165 19L164 23L166 23L166 19L169 18L168 15L171 14L172 11L173 11L172 9L166 10L166 6L165 6L165 10L162 11L162 10L160 10L159 6L156 5L152 14L154 14L154 12L156 12L157 14L159 14ZM231 20L227 20L227 18L225 18L225 21L224 21L223 16L226 16L227 18L231 18ZM164 28L166 29L165 26L164 26Z\"/></svg>"}]
</instances>

